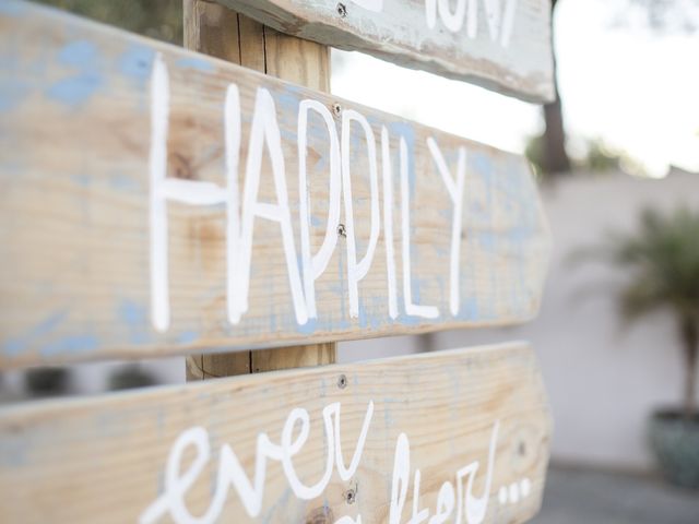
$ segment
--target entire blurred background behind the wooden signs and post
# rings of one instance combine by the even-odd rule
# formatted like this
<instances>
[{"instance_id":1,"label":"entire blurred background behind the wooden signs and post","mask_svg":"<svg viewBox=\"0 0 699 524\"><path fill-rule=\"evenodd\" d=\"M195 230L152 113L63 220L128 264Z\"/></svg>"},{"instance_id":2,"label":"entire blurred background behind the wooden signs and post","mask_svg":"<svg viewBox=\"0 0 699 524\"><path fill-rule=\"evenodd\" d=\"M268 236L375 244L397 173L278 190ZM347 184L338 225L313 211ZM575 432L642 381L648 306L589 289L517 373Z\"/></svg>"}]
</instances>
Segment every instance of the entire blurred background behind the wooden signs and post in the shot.
<instances>
[{"instance_id":1,"label":"entire blurred background behind the wooden signs and post","mask_svg":"<svg viewBox=\"0 0 699 524\"><path fill-rule=\"evenodd\" d=\"M181 43L179 0L43 3ZM343 343L339 358L531 341L555 419L534 522L697 524L699 0L558 0L554 41L559 98L544 108L333 50L334 94L526 154L555 241L536 321ZM15 402L183 382L185 365L1 379Z\"/></svg>"}]
</instances>

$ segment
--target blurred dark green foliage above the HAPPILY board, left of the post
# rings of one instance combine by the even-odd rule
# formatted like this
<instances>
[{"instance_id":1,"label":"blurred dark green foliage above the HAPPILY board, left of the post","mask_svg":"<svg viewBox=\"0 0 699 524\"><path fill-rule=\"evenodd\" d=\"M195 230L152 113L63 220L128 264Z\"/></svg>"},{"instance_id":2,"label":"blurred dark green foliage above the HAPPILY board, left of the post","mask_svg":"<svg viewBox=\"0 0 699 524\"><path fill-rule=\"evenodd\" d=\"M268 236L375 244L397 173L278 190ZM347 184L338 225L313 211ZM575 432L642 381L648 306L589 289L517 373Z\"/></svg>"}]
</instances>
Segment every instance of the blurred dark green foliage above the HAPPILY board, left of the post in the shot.
<instances>
[{"instance_id":1,"label":"blurred dark green foliage above the HAPPILY board, left of the post","mask_svg":"<svg viewBox=\"0 0 699 524\"><path fill-rule=\"evenodd\" d=\"M38 0L171 44L182 43L182 0Z\"/></svg>"}]
</instances>

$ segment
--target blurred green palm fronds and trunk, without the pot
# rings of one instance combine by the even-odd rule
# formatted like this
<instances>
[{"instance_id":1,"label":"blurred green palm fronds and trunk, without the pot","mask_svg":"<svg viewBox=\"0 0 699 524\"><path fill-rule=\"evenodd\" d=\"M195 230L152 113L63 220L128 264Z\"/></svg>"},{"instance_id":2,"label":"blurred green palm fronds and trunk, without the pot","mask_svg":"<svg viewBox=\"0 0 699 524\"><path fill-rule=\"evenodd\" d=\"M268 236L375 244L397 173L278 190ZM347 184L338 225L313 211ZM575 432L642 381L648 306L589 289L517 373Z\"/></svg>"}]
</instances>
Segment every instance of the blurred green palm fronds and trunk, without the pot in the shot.
<instances>
[{"instance_id":1,"label":"blurred green palm fronds and trunk, without the pot","mask_svg":"<svg viewBox=\"0 0 699 524\"><path fill-rule=\"evenodd\" d=\"M645 210L637 233L611 235L596 253L630 274L618 295L627 321L659 309L672 312L684 348L684 414L690 419L697 414L699 212Z\"/></svg>"}]
</instances>

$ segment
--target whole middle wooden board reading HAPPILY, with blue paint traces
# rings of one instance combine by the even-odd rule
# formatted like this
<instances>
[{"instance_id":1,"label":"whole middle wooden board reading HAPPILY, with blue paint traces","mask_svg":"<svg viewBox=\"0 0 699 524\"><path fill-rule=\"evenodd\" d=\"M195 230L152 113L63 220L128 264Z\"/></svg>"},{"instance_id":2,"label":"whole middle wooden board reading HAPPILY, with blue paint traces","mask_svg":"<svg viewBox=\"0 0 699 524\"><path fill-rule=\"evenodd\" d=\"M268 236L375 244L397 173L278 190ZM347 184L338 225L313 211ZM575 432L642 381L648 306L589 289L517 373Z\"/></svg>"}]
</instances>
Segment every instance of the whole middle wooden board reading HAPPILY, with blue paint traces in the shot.
<instances>
[{"instance_id":1,"label":"whole middle wooden board reading HAPPILY, with blue paint traces","mask_svg":"<svg viewBox=\"0 0 699 524\"><path fill-rule=\"evenodd\" d=\"M521 157L1 5L0 367L535 315L549 237Z\"/></svg>"}]
</instances>

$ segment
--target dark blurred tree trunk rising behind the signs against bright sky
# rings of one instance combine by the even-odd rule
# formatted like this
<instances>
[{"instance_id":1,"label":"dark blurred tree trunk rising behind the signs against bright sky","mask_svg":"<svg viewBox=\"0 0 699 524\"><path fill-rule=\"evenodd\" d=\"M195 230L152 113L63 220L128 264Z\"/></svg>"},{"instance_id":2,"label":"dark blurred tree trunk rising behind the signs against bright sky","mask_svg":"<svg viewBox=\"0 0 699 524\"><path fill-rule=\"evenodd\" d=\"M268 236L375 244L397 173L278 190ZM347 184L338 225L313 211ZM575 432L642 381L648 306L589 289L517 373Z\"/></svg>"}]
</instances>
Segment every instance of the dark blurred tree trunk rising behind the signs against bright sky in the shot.
<instances>
[{"instance_id":1,"label":"dark blurred tree trunk rising behind the signs against bright sky","mask_svg":"<svg viewBox=\"0 0 699 524\"><path fill-rule=\"evenodd\" d=\"M556 8L557 0L554 0L553 8ZM553 13L552 13L553 17ZM554 26L552 25L552 38ZM547 175L561 175L570 172L570 158L566 151L566 128L564 126L564 111L558 93L558 67L556 64L556 51L554 48L554 91L556 98L550 104L544 106L544 157L542 168Z\"/></svg>"}]
</instances>

